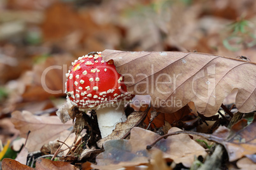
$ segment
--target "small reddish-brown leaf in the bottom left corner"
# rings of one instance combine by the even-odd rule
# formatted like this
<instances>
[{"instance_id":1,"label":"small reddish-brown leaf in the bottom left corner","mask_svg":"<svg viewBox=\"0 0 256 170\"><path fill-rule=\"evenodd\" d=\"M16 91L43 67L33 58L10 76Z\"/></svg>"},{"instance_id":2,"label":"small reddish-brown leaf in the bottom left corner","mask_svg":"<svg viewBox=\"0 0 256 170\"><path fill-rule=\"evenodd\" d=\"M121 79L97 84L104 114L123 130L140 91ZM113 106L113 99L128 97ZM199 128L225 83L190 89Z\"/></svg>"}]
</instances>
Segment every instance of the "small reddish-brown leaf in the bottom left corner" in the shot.
<instances>
[{"instance_id":1,"label":"small reddish-brown leaf in the bottom left corner","mask_svg":"<svg viewBox=\"0 0 256 170\"><path fill-rule=\"evenodd\" d=\"M3 170L31 170L34 169L32 167L26 166L24 164L21 164L17 160L13 160L10 158L4 158L2 161L2 168Z\"/></svg>"}]
</instances>

